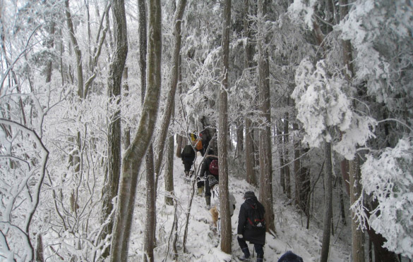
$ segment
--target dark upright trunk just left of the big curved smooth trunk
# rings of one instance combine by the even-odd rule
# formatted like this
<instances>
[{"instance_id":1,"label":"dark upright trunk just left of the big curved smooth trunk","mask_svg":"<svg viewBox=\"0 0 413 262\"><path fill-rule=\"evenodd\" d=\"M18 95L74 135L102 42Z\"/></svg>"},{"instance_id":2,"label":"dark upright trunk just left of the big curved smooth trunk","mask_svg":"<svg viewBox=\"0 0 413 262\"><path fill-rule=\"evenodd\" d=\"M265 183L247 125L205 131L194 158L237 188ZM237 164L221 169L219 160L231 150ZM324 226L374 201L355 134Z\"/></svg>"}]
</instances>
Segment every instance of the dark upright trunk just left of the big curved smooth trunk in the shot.
<instances>
[{"instance_id":1,"label":"dark upright trunk just left of the big curved smooth trunk","mask_svg":"<svg viewBox=\"0 0 413 262\"><path fill-rule=\"evenodd\" d=\"M107 79L107 92L109 100L116 101L119 106L121 102L121 85L122 75L126 56L128 55L128 39L126 32L126 14L124 1L119 1L112 8L114 17L115 32L115 53L112 57L112 62L109 65L109 76ZM118 107L120 108L120 107ZM106 219L114 206L112 199L117 196L119 189L119 178L121 176L121 110L116 111L109 118L108 127L108 169L107 177L105 177L104 194L103 194L103 211ZM103 238L112 232L113 220L107 225L107 230L102 235ZM104 257L109 256L109 250L103 254Z\"/></svg>"}]
</instances>

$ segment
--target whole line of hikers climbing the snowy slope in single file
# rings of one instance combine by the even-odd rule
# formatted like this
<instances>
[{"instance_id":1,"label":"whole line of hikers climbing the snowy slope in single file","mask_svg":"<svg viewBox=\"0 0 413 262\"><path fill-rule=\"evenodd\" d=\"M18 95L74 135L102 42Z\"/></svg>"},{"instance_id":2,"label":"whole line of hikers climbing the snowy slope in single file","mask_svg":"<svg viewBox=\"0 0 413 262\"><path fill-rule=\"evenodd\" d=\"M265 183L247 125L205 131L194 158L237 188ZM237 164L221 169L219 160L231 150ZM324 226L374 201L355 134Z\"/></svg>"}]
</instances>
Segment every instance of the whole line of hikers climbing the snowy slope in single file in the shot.
<instances>
[{"instance_id":1,"label":"whole line of hikers climbing the snowy slope in single file","mask_svg":"<svg viewBox=\"0 0 413 262\"><path fill-rule=\"evenodd\" d=\"M208 132L201 132L196 135L196 132L191 132L189 135L191 144L184 146L181 152L182 163L184 163L185 178L190 180L193 176L193 161L196 158L196 152L200 152L204 157L198 173L197 188L198 196L202 196L205 191L205 208L207 208L212 217L213 225L220 231L220 189L219 189L219 168L218 156L215 155L213 149L209 149L210 135ZM207 152L208 150L208 152ZM205 153L207 153L205 155ZM213 205L211 206L211 197ZM229 193L229 214L234 214L236 201L234 195ZM257 254L257 262L263 262L264 244L265 244L265 208L261 204L253 191L244 193L244 203L239 208L237 240L244 256L239 257L240 261L251 261L249 247L246 242L254 245ZM292 253L291 251L284 254L278 262L303 262L302 258Z\"/></svg>"}]
</instances>

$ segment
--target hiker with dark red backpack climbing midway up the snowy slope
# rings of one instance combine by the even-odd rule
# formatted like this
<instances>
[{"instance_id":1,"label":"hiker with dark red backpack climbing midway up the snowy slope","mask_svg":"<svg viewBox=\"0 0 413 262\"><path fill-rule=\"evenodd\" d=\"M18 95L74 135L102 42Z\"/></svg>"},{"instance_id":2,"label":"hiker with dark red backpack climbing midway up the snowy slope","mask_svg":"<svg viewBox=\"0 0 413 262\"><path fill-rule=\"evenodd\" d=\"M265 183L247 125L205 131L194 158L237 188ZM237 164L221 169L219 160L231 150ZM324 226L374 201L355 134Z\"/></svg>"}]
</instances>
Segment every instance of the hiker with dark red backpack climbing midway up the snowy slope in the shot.
<instances>
[{"instance_id":1,"label":"hiker with dark red backpack climbing midway up the snowy slope","mask_svg":"<svg viewBox=\"0 0 413 262\"><path fill-rule=\"evenodd\" d=\"M212 149L208 151L208 155L205 156L205 159L203 160L203 163L200 166L198 182L196 183L198 187L198 194L202 192L203 186L205 186L205 207L208 210L210 210L211 190L210 185L208 183L208 175L213 175L218 182L220 181L220 178L218 177L218 157L214 156L214 151Z\"/></svg>"}]
</instances>

